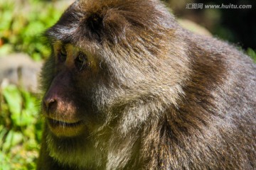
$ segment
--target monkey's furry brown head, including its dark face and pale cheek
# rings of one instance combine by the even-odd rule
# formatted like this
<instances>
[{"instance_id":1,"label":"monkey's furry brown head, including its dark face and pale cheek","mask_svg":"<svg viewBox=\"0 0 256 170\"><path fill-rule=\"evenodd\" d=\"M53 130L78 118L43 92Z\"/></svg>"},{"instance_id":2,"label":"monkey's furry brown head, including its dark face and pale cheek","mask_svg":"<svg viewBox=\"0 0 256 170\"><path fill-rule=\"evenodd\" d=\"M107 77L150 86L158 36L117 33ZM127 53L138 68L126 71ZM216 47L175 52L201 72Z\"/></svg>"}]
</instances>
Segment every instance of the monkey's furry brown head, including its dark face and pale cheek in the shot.
<instances>
[{"instance_id":1,"label":"monkey's furry brown head, including its dark face and pale cheek","mask_svg":"<svg viewBox=\"0 0 256 170\"><path fill-rule=\"evenodd\" d=\"M181 32L157 0L75 1L46 31L49 145L88 140L104 127L126 135L176 105L188 72Z\"/></svg>"}]
</instances>

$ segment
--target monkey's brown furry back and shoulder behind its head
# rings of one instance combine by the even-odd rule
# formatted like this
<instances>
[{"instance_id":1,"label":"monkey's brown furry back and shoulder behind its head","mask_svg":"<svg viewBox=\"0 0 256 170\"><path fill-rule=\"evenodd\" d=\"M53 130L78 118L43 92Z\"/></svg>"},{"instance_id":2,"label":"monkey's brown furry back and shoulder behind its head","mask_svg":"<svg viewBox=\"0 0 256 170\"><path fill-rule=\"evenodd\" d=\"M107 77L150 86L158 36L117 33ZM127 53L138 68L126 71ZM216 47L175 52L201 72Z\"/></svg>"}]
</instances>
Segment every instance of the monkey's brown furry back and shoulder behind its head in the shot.
<instances>
[{"instance_id":1,"label":"monkey's brown furry back and shoulder behind its head","mask_svg":"<svg viewBox=\"0 0 256 170\"><path fill-rule=\"evenodd\" d=\"M166 113L163 169L255 169L256 65L226 42L184 32L191 72Z\"/></svg>"}]
</instances>

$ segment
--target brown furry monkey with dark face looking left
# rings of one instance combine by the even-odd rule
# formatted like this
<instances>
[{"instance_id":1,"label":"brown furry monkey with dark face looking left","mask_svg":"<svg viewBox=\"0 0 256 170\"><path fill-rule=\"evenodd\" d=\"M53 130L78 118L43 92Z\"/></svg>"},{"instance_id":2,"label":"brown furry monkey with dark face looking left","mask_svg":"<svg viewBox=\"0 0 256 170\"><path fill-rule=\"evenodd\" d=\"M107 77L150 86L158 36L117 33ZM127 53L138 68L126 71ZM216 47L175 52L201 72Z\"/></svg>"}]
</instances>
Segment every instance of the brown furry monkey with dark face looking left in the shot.
<instances>
[{"instance_id":1,"label":"brown furry monkey with dark face looking left","mask_svg":"<svg viewBox=\"0 0 256 170\"><path fill-rule=\"evenodd\" d=\"M256 169L256 65L159 0L80 0L46 30L37 169Z\"/></svg>"}]
</instances>

